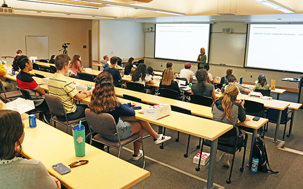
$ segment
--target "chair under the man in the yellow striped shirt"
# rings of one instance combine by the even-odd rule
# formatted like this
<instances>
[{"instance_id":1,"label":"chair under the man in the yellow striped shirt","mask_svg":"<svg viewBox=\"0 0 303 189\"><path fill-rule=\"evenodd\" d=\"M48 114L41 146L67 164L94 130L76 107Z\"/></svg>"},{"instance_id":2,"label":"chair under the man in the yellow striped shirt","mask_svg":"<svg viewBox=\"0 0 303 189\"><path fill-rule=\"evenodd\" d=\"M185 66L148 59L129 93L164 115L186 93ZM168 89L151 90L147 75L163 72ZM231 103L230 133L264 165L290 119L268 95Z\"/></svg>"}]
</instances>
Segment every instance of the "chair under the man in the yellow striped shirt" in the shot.
<instances>
[{"instance_id":1,"label":"chair under the man in the yellow striped shirt","mask_svg":"<svg viewBox=\"0 0 303 189\"><path fill-rule=\"evenodd\" d=\"M66 126L66 133L68 131L68 127L78 124L80 121L86 121L86 117L82 117L80 119L68 120L66 116L66 109L61 98L57 96L51 96L49 94L44 95L46 103L48 105L49 111L51 111L51 125L52 120L54 121L54 127L56 128L56 122ZM57 118L57 116L65 116L66 121L61 121Z\"/></svg>"}]
</instances>

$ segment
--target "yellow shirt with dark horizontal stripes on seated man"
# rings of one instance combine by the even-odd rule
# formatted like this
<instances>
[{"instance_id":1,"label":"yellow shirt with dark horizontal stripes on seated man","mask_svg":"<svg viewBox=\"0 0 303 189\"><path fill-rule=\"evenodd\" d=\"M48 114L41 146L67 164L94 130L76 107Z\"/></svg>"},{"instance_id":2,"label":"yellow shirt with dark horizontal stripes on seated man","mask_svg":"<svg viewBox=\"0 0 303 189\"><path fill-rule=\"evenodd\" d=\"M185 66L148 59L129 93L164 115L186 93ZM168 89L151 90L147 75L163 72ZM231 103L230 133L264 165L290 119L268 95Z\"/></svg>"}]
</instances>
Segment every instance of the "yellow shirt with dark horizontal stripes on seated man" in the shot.
<instances>
[{"instance_id":1,"label":"yellow shirt with dark horizontal stripes on seated man","mask_svg":"<svg viewBox=\"0 0 303 189\"><path fill-rule=\"evenodd\" d=\"M75 112L77 109L73 97L78 93L73 83L64 75L55 73L48 81L49 95L61 98L67 113Z\"/></svg>"}]
</instances>

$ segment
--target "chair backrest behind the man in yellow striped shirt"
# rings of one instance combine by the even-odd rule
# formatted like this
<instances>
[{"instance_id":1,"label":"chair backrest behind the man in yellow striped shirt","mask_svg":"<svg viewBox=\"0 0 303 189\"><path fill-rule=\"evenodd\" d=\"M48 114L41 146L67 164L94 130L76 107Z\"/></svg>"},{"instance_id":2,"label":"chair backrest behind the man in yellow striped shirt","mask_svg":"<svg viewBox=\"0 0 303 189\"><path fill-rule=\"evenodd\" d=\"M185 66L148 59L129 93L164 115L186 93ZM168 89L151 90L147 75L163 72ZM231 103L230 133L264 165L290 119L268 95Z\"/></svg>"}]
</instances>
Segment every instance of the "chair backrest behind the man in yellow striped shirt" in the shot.
<instances>
[{"instance_id":1,"label":"chair backrest behind the man in yellow striped shirt","mask_svg":"<svg viewBox=\"0 0 303 189\"><path fill-rule=\"evenodd\" d=\"M49 111L57 116L63 116L66 115L66 109L64 107L64 104L61 100L61 98L57 96L51 96L49 94L44 95L45 101L48 105Z\"/></svg>"}]
</instances>

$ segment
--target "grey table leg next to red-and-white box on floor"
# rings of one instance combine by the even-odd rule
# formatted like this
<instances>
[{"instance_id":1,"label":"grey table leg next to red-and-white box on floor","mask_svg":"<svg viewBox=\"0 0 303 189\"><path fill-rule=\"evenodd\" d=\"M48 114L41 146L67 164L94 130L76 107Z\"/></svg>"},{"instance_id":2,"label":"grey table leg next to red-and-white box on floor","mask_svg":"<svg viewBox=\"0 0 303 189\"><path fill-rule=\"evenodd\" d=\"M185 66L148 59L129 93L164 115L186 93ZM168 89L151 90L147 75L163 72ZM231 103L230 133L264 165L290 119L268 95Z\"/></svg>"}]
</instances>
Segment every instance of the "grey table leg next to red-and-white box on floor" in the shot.
<instances>
[{"instance_id":1,"label":"grey table leg next to red-and-white box on floor","mask_svg":"<svg viewBox=\"0 0 303 189\"><path fill-rule=\"evenodd\" d=\"M207 185L205 189L214 189L214 174L215 174L215 166L216 166L216 155L217 155L217 147L218 147L218 138L212 141L211 144L211 155L210 155L210 164L209 164L209 172L207 177ZM201 152L202 153L202 152Z\"/></svg>"}]
</instances>

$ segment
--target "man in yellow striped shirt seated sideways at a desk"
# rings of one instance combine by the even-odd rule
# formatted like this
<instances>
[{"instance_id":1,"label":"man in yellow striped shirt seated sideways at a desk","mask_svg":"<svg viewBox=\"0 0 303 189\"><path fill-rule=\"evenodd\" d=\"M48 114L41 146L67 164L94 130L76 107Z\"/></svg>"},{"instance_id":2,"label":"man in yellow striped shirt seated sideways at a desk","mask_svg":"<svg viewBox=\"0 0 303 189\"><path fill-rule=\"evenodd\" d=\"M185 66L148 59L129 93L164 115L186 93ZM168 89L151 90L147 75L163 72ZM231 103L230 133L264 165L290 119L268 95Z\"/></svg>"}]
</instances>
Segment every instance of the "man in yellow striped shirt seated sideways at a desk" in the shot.
<instances>
[{"instance_id":1,"label":"man in yellow striped shirt seated sideways at a desk","mask_svg":"<svg viewBox=\"0 0 303 189\"><path fill-rule=\"evenodd\" d=\"M69 69L70 60L71 58L65 54L57 55L55 59L57 72L49 78L48 92L49 95L61 98L67 112L67 119L75 120L85 117L84 111L88 108L88 105L76 105L73 98L81 101L82 99L90 96L91 91L82 91L78 93L73 83L66 79L64 74L67 73ZM57 116L57 118L61 121L66 121L65 116Z\"/></svg>"}]
</instances>

